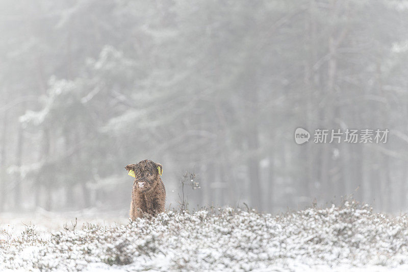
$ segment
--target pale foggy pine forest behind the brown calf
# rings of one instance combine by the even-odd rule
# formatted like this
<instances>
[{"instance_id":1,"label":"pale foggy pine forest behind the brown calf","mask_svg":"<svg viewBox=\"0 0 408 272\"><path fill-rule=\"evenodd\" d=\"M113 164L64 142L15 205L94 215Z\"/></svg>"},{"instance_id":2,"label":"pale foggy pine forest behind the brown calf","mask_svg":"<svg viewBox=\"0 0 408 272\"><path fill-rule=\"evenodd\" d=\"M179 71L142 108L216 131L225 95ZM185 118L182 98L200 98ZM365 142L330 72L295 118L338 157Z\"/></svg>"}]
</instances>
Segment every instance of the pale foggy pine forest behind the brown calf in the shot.
<instances>
[{"instance_id":1,"label":"pale foggy pine forest behind the brown calf","mask_svg":"<svg viewBox=\"0 0 408 272\"><path fill-rule=\"evenodd\" d=\"M124 166L151 159L166 207L183 181L190 209L405 212L407 18L386 0L0 1L0 211L126 216Z\"/></svg>"}]
</instances>

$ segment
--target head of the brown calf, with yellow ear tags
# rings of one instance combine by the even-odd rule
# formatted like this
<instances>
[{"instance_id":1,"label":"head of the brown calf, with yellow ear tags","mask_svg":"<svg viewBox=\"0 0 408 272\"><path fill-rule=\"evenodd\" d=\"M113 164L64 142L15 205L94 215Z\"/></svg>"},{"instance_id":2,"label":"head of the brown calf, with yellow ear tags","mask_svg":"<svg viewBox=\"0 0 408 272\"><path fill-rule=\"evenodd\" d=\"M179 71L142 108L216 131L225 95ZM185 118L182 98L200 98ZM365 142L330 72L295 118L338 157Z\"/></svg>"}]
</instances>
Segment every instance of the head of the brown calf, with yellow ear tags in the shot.
<instances>
[{"instance_id":1,"label":"head of the brown calf, with yellow ear tags","mask_svg":"<svg viewBox=\"0 0 408 272\"><path fill-rule=\"evenodd\" d=\"M135 177L133 187L140 192L146 192L154 188L163 173L163 166L151 160L143 160L137 164L129 164L124 167L130 176Z\"/></svg>"}]
</instances>

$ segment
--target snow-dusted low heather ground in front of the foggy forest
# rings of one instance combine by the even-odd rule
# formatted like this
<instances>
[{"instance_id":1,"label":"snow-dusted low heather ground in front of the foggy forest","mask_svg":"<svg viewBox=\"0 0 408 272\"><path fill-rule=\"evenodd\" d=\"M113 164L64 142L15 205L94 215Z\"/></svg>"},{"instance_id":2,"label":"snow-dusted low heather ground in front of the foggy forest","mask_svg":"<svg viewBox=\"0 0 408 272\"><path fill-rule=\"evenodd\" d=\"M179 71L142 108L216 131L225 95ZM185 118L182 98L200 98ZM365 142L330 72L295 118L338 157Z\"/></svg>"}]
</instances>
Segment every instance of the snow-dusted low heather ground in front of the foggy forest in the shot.
<instances>
[{"instance_id":1,"label":"snow-dusted low heather ground in front of the foggy forest","mask_svg":"<svg viewBox=\"0 0 408 272\"><path fill-rule=\"evenodd\" d=\"M408 219L352 201L279 216L226 208L118 221L18 232L0 220L0 271L408 271Z\"/></svg>"}]
</instances>

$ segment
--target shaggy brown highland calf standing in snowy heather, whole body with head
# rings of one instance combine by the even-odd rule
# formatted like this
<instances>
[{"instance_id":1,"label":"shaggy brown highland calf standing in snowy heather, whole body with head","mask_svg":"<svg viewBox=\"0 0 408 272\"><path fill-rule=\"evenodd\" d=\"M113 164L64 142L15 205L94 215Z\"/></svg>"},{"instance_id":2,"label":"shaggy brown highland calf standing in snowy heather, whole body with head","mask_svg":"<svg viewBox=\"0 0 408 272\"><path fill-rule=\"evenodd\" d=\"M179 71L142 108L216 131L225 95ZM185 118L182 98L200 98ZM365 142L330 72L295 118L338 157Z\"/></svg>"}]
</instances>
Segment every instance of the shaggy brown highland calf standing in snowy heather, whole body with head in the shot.
<instances>
[{"instance_id":1,"label":"shaggy brown highland calf standing in snowy heather, whole body with head","mask_svg":"<svg viewBox=\"0 0 408 272\"><path fill-rule=\"evenodd\" d=\"M166 201L166 189L160 173L163 166L151 160L143 160L137 164L129 164L124 167L127 171L135 171L135 181L133 182L132 203L130 216L132 220L142 217L143 213L155 216L164 212Z\"/></svg>"}]
</instances>

